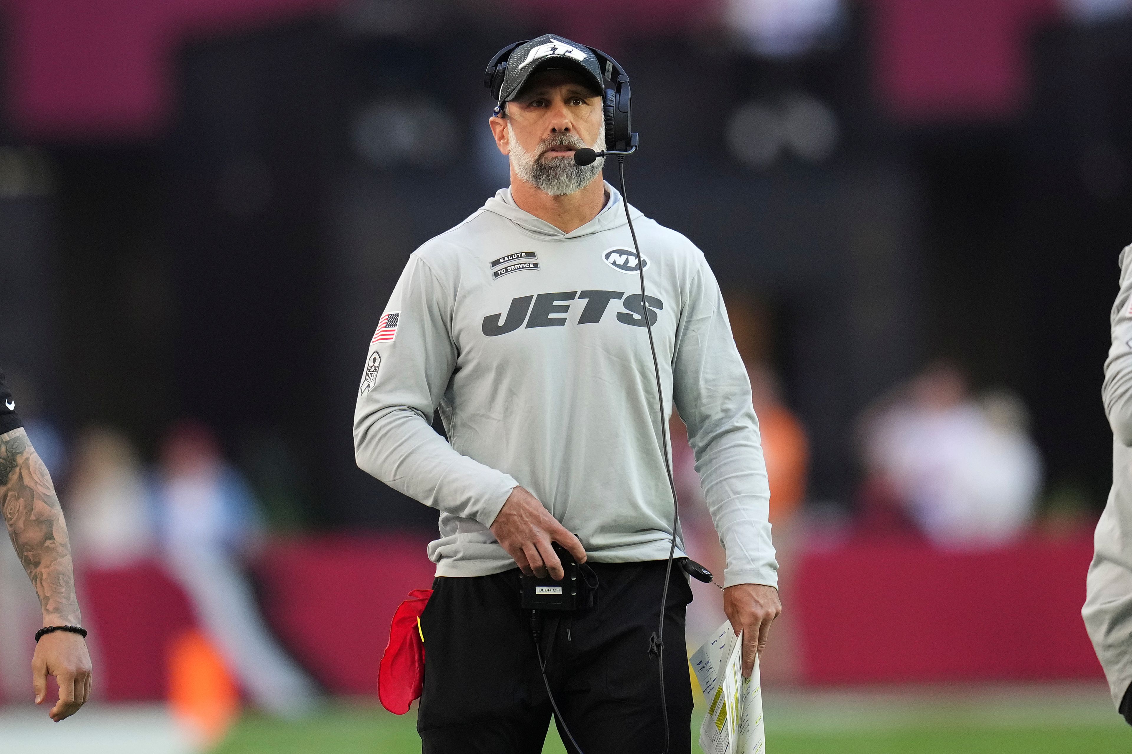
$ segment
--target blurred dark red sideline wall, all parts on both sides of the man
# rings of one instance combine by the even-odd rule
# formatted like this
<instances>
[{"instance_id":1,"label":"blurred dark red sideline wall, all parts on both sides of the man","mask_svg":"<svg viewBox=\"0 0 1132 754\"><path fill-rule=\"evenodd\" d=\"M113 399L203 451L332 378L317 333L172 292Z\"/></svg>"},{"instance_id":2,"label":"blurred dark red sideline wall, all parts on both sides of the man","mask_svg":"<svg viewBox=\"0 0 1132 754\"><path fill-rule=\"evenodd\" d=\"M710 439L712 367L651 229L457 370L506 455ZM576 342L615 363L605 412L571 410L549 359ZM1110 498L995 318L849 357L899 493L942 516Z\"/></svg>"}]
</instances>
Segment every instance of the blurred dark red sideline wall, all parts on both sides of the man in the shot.
<instances>
[{"instance_id":1,"label":"blurred dark red sideline wall, all parts on both sides of the man","mask_svg":"<svg viewBox=\"0 0 1132 754\"><path fill-rule=\"evenodd\" d=\"M272 545L257 566L268 624L335 694L375 692L404 595L431 583L429 536L323 536ZM1099 678L1081 622L1091 532L947 553L898 539L811 545L784 595L804 679ZM165 651L191 606L160 563L86 572L96 697L162 699ZM31 660L31 656L28 656Z\"/></svg>"}]
</instances>

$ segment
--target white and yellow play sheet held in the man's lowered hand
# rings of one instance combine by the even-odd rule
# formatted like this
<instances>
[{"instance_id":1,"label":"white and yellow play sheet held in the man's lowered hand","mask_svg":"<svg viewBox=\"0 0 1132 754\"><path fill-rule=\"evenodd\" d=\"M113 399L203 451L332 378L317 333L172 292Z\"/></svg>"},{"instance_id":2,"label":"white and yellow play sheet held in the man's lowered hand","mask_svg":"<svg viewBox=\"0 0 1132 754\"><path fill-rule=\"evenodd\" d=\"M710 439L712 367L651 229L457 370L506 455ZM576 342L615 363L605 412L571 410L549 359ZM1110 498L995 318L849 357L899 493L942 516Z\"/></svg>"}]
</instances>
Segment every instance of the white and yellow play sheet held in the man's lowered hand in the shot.
<instances>
[{"instance_id":1,"label":"white and yellow play sheet held in the man's lowered hand","mask_svg":"<svg viewBox=\"0 0 1132 754\"><path fill-rule=\"evenodd\" d=\"M751 677L744 678L741 648L741 634L736 636L728 621L692 656L692 669L707 703L700 727L704 754L766 752L758 660Z\"/></svg>"}]
</instances>

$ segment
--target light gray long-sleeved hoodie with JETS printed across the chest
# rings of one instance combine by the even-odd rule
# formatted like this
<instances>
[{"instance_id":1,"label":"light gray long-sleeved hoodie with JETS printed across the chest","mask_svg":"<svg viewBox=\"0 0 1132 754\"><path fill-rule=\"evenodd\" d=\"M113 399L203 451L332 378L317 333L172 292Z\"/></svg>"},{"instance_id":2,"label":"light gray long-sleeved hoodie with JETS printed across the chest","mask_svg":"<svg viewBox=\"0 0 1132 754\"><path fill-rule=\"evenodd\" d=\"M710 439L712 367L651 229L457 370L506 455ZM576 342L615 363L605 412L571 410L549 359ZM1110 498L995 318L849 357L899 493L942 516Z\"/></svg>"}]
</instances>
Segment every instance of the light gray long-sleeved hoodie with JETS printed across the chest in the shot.
<instances>
[{"instance_id":1,"label":"light gray long-sleeved hoodie with JETS printed across the chest","mask_svg":"<svg viewBox=\"0 0 1132 754\"><path fill-rule=\"evenodd\" d=\"M606 190L598 216L563 233L503 189L413 252L367 356L358 466L440 510L437 575L515 567L489 530L515 485L594 562L667 557L649 317L664 421L675 399L727 551L724 583L775 586L758 423L719 286L695 245L631 207L642 301L624 205Z\"/></svg>"}]
</instances>

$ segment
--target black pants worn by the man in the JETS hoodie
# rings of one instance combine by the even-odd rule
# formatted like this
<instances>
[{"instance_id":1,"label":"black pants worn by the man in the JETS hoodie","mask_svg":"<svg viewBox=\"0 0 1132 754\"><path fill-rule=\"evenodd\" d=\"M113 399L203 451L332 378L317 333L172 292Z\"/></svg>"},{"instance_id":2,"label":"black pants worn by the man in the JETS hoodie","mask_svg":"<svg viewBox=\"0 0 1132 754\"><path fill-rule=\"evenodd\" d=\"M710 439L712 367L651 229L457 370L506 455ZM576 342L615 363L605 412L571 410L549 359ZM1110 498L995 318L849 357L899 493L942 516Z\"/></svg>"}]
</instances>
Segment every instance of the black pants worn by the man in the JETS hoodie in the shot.
<instances>
[{"instance_id":1,"label":"black pants worn by the man in the JETS hoodie","mask_svg":"<svg viewBox=\"0 0 1132 754\"><path fill-rule=\"evenodd\" d=\"M542 657L558 709L584 754L660 754L664 746L657 630L664 561L591 563L594 606L544 613ZM687 577L672 567L664 610L670 754L691 751L692 684L684 644ZM424 691L417 718L423 754L537 754L552 716L520 608L518 569L437 578L421 615ZM559 734L572 754L558 722Z\"/></svg>"}]
</instances>

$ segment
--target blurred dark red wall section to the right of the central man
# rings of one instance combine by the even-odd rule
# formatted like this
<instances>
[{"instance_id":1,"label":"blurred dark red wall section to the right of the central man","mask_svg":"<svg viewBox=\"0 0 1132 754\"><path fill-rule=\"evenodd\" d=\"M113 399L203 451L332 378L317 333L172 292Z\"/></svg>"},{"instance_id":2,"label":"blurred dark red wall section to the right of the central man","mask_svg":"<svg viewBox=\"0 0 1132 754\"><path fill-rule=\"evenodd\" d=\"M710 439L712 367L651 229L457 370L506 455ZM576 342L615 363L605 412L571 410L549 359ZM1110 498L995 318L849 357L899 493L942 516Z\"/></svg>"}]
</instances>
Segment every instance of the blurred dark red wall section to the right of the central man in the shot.
<instances>
[{"instance_id":1,"label":"blurred dark red wall section to the right of the central man","mask_svg":"<svg viewBox=\"0 0 1132 754\"><path fill-rule=\"evenodd\" d=\"M1101 677L1081 621L1091 532L958 553L907 540L808 552L791 595L817 684Z\"/></svg>"}]
</instances>

